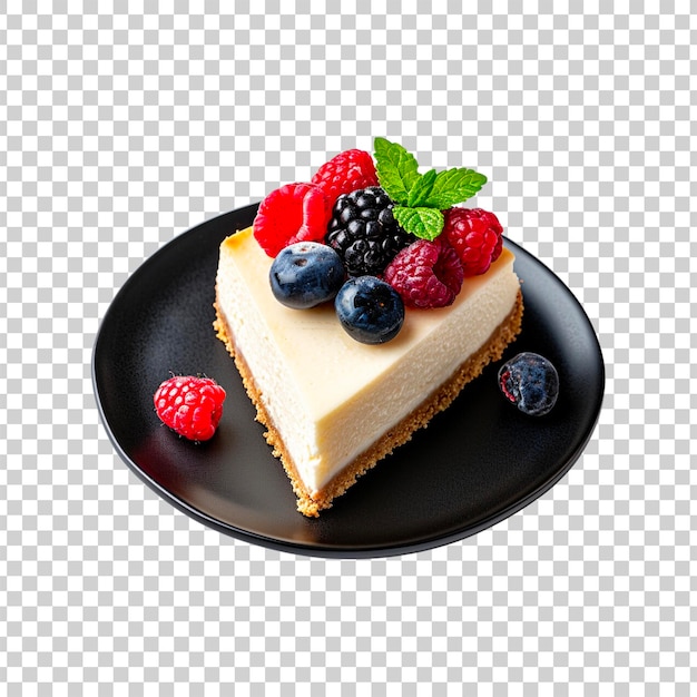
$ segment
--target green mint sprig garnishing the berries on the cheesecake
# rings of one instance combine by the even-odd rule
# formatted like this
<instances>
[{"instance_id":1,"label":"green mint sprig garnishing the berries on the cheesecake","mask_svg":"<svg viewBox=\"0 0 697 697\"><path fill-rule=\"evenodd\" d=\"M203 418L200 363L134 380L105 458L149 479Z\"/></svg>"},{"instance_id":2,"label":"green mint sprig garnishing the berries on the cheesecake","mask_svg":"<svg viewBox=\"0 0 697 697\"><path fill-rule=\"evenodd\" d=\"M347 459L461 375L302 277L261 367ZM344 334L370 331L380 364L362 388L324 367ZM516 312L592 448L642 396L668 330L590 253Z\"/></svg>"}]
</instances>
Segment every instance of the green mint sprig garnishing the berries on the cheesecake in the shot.
<instances>
[{"instance_id":1,"label":"green mint sprig garnishing the berries on the cheesecake","mask_svg":"<svg viewBox=\"0 0 697 697\"><path fill-rule=\"evenodd\" d=\"M408 232L435 239L442 232L441 210L474 196L487 183L484 175L457 167L436 174L419 173L416 158L397 143L375 138L375 169L380 186L397 204L394 217Z\"/></svg>"}]
</instances>

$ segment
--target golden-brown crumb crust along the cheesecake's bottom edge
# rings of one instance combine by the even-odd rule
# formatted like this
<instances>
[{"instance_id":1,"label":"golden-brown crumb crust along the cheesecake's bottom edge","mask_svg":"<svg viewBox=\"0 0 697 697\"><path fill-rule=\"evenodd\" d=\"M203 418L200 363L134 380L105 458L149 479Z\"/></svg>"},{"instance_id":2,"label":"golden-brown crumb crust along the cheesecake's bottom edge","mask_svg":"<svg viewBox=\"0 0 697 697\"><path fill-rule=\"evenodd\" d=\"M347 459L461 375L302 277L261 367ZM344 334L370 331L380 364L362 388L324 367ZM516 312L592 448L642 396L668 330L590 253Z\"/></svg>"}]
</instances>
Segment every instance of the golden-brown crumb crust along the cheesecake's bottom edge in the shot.
<instances>
[{"instance_id":1,"label":"golden-brown crumb crust along the cheesecake's bottom edge","mask_svg":"<svg viewBox=\"0 0 697 697\"><path fill-rule=\"evenodd\" d=\"M214 307L216 311L216 320L213 326L216 331L216 336L225 344L228 353L235 361L244 387L256 408L256 420L267 429L264 433L264 438L273 448L274 457L281 460L293 484L293 491L297 497L297 510L310 518L316 518L320 511L331 508L333 500L354 484L359 477L375 467L380 460L392 453L395 448L411 440L415 431L428 426L435 414L450 406L464 385L478 377L489 363L498 361L502 356L505 347L520 333L523 313L522 293L519 291L516 304L505 320L493 331L489 341L460 365L450 380L426 396L420 406L381 439L375 441L375 443L353 462L347 464L324 487L324 489L322 489L322 491L312 497L300 478L295 462L286 450L283 438L276 431L271 416L266 412L261 392L254 382L254 376L247 366L244 355L235 345L233 333L217 302L217 289Z\"/></svg>"}]
</instances>

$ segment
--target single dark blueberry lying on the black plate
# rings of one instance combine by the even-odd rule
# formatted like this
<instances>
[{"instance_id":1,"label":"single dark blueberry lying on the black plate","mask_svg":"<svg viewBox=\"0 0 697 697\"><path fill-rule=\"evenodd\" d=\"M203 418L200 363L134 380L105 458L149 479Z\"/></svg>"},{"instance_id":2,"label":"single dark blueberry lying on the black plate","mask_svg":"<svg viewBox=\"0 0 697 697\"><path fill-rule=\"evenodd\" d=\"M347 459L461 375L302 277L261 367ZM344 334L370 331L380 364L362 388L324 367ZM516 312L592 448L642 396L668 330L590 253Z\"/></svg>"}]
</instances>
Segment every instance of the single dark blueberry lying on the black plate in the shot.
<instances>
[{"instance_id":1,"label":"single dark blueberry lying on the black plate","mask_svg":"<svg viewBox=\"0 0 697 697\"><path fill-rule=\"evenodd\" d=\"M542 416L557 402L559 375L546 357L527 351L501 366L499 387L521 412Z\"/></svg>"}]
</instances>

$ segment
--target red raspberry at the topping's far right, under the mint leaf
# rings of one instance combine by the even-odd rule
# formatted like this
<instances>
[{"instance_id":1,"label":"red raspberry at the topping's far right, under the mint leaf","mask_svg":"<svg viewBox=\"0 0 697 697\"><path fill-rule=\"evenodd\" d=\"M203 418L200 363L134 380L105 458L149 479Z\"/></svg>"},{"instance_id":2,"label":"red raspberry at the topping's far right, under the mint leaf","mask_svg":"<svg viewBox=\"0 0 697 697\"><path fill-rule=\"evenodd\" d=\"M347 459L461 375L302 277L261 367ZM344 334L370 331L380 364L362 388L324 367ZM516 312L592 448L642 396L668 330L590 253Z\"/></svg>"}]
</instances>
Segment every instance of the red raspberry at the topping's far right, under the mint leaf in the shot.
<instances>
[{"instance_id":1,"label":"red raspberry at the topping's far right, under the mint leaf","mask_svg":"<svg viewBox=\"0 0 697 697\"><path fill-rule=\"evenodd\" d=\"M465 276L483 274L503 247L503 228L493 213L482 208L450 208L444 212L443 235L458 253Z\"/></svg>"}]
</instances>

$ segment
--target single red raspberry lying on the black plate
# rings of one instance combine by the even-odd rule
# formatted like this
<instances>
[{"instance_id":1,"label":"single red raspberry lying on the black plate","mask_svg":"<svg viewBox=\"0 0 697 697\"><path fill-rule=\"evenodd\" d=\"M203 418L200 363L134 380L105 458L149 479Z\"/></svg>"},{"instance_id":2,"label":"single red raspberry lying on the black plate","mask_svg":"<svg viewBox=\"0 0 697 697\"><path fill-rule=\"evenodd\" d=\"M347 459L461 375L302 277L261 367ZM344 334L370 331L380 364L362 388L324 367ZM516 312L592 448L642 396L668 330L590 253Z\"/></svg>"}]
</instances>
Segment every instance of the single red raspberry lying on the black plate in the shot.
<instances>
[{"instance_id":1,"label":"single red raspberry lying on the black plate","mask_svg":"<svg viewBox=\"0 0 697 697\"><path fill-rule=\"evenodd\" d=\"M223 415L225 390L210 377L175 375L153 397L160 420L190 441L213 438Z\"/></svg>"}]
</instances>

